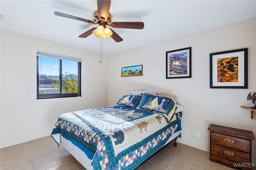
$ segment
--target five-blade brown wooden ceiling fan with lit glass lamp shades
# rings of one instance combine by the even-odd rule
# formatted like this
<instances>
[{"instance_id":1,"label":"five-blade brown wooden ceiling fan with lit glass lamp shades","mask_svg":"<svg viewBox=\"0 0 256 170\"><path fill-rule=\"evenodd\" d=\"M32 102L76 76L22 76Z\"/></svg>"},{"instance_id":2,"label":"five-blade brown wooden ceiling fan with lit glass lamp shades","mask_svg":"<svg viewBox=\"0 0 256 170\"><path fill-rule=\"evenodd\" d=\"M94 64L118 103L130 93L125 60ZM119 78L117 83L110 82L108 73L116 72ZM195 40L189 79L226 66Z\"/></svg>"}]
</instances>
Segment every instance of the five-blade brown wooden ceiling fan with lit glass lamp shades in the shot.
<instances>
[{"instance_id":1,"label":"five-blade brown wooden ceiling fan with lit glass lamp shades","mask_svg":"<svg viewBox=\"0 0 256 170\"><path fill-rule=\"evenodd\" d=\"M111 37L116 42L121 42L123 39L116 34L111 28L107 28L106 26L112 28L130 28L130 29L143 29L143 22L112 22L112 16L109 13L111 0L97 0L98 10L94 12L94 21L87 20L84 18L79 18L76 16L64 14L61 12L54 12L56 16L61 16L65 18L70 18L78 21L88 22L90 24L98 24L98 28L94 27L90 30L84 32L79 37L86 38L91 34L94 34L100 38L108 38Z\"/></svg>"}]
</instances>

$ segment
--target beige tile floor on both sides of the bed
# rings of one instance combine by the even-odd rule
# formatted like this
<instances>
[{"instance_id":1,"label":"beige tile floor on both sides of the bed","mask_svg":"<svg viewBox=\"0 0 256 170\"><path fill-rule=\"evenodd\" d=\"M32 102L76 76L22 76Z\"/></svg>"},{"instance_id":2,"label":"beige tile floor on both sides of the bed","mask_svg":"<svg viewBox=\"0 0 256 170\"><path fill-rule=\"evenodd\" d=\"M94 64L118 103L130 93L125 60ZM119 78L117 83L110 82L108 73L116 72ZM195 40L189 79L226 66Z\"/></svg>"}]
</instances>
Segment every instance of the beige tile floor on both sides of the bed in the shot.
<instances>
[{"instance_id":1,"label":"beige tile floor on both sides of the bed","mask_svg":"<svg viewBox=\"0 0 256 170\"><path fill-rule=\"evenodd\" d=\"M40 147L38 147L40 146ZM1 170L85 170L52 137L0 149ZM232 170L209 160L209 152L177 142L169 144L136 170Z\"/></svg>"}]
</instances>

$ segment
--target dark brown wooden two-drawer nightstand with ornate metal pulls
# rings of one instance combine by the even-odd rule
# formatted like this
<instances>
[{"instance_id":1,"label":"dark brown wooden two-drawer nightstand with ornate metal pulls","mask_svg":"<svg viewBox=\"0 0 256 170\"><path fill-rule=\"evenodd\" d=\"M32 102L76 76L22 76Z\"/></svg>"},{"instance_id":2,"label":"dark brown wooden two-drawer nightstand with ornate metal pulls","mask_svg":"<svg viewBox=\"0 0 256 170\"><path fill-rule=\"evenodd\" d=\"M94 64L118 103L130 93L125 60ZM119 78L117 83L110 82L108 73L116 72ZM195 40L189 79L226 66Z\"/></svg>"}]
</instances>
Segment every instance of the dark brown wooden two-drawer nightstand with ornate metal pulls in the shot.
<instances>
[{"instance_id":1,"label":"dark brown wooden two-drawer nightstand with ornate metal pulls","mask_svg":"<svg viewBox=\"0 0 256 170\"><path fill-rule=\"evenodd\" d=\"M210 125L208 130L210 161L220 161L243 170L252 169L249 167L252 166L252 140L255 139L252 131L219 125Z\"/></svg>"}]
</instances>

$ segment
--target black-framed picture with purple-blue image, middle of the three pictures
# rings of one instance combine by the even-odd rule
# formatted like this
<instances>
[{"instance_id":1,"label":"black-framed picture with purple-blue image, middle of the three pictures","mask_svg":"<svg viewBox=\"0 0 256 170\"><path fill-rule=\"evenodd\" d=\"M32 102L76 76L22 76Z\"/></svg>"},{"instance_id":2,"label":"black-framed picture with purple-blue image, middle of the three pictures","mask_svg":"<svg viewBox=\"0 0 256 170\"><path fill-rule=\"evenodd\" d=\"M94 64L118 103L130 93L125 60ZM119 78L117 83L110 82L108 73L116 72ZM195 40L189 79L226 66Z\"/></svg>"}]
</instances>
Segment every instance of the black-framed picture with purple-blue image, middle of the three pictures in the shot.
<instances>
[{"instance_id":1,"label":"black-framed picture with purple-blue image, middle of the three pictures","mask_svg":"<svg viewBox=\"0 0 256 170\"><path fill-rule=\"evenodd\" d=\"M166 52L166 79L191 77L191 47Z\"/></svg>"}]
</instances>

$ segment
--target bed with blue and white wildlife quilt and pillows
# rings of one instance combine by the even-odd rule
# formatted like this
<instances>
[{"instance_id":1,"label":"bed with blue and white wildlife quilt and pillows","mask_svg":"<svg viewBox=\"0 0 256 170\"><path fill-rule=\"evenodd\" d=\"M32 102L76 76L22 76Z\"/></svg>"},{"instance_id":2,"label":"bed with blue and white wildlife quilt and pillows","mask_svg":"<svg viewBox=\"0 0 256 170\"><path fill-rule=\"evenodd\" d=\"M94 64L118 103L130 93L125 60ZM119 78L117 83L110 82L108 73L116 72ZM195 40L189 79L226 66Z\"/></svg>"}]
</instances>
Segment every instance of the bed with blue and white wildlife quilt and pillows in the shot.
<instances>
[{"instance_id":1,"label":"bed with blue and white wildlife quilt and pillows","mask_svg":"<svg viewBox=\"0 0 256 170\"><path fill-rule=\"evenodd\" d=\"M133 170L180 136L175 97L125 95L116 105L61 115L51 136L87 170Z\"/></svg>"}]
</instances>

